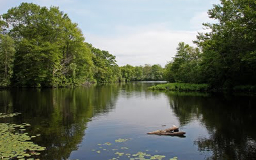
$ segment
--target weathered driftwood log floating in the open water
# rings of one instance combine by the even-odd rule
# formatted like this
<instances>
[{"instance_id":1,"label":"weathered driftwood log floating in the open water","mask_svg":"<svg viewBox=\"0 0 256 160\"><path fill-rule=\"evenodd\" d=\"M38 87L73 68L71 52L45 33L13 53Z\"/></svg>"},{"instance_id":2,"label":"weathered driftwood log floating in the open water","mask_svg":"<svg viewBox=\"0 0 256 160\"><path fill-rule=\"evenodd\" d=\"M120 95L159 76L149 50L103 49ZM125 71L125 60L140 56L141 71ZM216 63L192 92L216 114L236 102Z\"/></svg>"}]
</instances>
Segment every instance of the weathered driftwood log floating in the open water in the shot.
<instances>
[{"instance_id":1,"label":"weathered driftwood log floating in the open water","mask_svg":"<svg viewBox=\"0 0 256 160\"><path fill-rule=\"evenodd\" d=\"M186 132L182 132L182 131L179 132L179 127L176 127L175 125L173 125L172 128L157 130L154 132L148 132L147 134L156 134L159 136L184 136Z\"/></svg>"}]
</instances>

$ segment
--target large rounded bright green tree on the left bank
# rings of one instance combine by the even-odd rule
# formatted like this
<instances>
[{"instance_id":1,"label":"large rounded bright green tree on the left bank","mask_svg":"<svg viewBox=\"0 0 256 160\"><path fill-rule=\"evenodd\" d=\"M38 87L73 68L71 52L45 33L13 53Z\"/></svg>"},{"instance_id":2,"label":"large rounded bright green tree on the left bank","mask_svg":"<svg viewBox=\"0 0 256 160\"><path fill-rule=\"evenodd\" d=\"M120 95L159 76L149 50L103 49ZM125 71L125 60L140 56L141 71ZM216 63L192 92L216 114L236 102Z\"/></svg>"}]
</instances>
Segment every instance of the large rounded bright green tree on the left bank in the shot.
<instances>
[{"instance_id":1,"label":"large rounded bright green tree on the left bank","mask_svg":"<svg viewBox=\"0 0 256 160\"><path fill-rule=\"evenodd\" d=\"M2 28L15 40L13 83L76 86L92 80L92 54L81 29L58 7L21 3L3 14Z\"/></svg>"}]
</instances>

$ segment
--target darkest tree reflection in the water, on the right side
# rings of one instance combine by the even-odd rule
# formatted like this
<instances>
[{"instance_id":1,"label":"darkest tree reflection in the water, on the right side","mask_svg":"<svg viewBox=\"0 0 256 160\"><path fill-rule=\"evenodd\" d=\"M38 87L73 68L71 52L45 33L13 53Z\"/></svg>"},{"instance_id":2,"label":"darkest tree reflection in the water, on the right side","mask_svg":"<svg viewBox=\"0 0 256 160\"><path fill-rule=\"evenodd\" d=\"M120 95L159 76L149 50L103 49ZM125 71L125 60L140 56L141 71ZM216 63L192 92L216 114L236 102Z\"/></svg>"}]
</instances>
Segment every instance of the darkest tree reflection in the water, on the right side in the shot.
<instances>
[{"instance_id":1,"label":"darkest tree reflection in the water, on the right side","mask_svg":"<svg viewBox=\"0 0 256 160\"><path fill-rule=\"evenodd\" d=\"M199 119L209 131L195 140L198 150L212 152L209 159L256 159L255 97L167 94L180 125Z\"/></svg>"}]
</instances>

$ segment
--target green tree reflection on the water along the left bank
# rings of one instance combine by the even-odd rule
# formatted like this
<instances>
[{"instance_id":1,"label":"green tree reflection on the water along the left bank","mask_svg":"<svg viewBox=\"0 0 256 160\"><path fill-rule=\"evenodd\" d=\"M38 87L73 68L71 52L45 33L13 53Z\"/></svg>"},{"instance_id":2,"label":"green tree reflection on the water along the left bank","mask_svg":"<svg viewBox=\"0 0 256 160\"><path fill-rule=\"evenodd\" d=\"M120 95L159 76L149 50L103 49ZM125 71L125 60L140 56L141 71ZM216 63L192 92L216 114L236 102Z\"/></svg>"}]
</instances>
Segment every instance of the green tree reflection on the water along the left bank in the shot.
<instances>
[{"instance_id":1,"label":"green tree reflection on the water along the left bank","mask_svg":"<svg viewBox=\"0 0 256 160\"><path fill-rule=\"evenodd\" d=\"M21 112L15 123L27 122L29 134L42 135L34 140L47 147L41 159L67 159L81 143L86 124L113 109L117 95L116 85L1 91L0 112Z\"/></svg>"}]
</instances>

